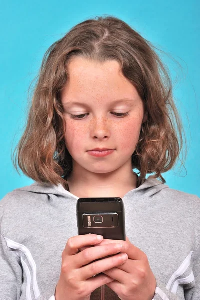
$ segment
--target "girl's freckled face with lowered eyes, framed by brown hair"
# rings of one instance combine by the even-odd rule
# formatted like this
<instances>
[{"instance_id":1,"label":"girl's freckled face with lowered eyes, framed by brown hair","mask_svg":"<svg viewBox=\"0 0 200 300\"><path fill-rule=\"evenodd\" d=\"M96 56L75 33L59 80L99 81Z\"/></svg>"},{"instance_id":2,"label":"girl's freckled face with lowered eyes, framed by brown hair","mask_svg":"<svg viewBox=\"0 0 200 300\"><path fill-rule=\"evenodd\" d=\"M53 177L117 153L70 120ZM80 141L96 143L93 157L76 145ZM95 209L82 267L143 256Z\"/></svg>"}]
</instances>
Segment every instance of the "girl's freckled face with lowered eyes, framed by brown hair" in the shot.
<instances>
[{"instance_id":1,"label":"girl's freckled face with lowered eyes, framed by brown hair","mask_svg":"<svg viewBox=\"0 0 200 300\"><path fill-rule=\"evenodd\" d=\"M119 72L115 60L99 64L75 57L68 73L61 101L73 170L108 173L125 165L130 170L144 117L136 88ZM94 148L114 150L96 157L88 152Z\"/></svg>"}]
</instances>

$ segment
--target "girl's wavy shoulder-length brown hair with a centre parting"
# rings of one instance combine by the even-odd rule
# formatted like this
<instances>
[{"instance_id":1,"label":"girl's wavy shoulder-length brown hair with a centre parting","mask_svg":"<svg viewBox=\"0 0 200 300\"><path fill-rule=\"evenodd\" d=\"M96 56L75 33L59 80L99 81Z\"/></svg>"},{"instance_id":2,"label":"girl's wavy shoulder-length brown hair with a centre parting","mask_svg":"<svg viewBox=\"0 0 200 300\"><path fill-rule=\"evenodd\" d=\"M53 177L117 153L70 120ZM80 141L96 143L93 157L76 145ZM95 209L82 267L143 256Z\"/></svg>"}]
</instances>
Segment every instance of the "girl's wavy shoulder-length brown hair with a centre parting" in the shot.
<instances>
[{"instance_id":1,"label":"girl's wavy shoulder-length brown hair with a centre parting","mask_svg":"<svg viewBox=\"0 0 200 300\"><path fill-rule=\"evenodd\" d=\"M172 96L172 82L149 41L116 17L96 17L74 26L54 42L42 60L25 131L15 150L23 173L40 183L61 183L67 188L72 171L64 132L66 124L60 91L66 83L67 65L74 56L101 63L119 62L123 75L135 86L144 102L147 121L132 154L132 167L138 169L140 184L147 173L165 179L182 148L182 125ZM14 152L15 152L14 150ZM17 161L16 161L17 160ZM17 170L18 171L18 170Z\"/></svg>"}]
</instances>

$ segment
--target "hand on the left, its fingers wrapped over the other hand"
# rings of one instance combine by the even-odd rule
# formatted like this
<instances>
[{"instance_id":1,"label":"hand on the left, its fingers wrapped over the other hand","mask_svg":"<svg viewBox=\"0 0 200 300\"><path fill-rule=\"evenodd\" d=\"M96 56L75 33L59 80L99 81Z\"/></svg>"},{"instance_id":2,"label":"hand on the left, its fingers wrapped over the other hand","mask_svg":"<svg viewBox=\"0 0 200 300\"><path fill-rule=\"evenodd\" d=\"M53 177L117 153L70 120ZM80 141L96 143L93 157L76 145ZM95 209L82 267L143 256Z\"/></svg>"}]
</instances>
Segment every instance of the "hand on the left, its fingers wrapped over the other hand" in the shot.
<instances>
[{"instance_id":1,"label":"hand on the left, its fingers wrapped over the other hand","mask_svg":"<svg viewBox=\"0 0 200 300\"><path fill-rule=\"evenodd\" d=\"M103 236L100 237L98 239L96 234L85 234L68 239L62 252L60 278L55 291L56 300L89 300L96 288L113 281L100 273L123 264L128 256L123 253L92 262L122 250L120 243L93 247L92 245L103 240ZM83 247L86 248L79 252ZM97 274L99 275L95 276Z\"/></svg>"}]
</instances>

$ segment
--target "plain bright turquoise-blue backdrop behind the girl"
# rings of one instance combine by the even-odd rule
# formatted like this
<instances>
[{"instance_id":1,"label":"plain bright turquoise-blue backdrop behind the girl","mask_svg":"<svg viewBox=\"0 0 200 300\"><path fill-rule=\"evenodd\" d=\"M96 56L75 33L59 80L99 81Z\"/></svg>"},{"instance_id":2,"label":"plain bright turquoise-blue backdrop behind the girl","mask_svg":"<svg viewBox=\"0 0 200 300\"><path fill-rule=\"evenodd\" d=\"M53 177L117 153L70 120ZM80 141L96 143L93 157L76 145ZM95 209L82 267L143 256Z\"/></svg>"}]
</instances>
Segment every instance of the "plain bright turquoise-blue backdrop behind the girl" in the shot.
<instances>
[{"instance_id":1,"label":"plain bright turquoise-blue backdrop behind the girl","mask_svg":"<svg viewBox=\"0 0 200 300\"><path fill-rule=\"evenodd\" d=\"M200 197L200 1L3 1L0 8L0 199L33 183L11 162L25 122L28 87L47 48L75 24L99 15L121 18L167 52L187 140L185 168L164 173L174 189Z\"/></svg>"}]
</instances>

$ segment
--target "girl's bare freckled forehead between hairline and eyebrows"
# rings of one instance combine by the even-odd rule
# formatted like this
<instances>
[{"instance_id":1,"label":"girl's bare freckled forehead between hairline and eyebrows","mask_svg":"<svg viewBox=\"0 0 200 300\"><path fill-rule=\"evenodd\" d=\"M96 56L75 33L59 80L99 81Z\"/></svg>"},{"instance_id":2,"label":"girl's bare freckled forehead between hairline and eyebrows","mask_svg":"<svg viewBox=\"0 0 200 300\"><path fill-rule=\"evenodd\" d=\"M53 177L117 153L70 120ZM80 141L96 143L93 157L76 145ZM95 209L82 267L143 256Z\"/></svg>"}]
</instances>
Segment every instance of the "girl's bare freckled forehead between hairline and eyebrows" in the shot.
<instances>
[{"instance_id":1,"label":"girl's bare freckled forehead between hairline and eyebrows","mask_svg":"<svg viewBox=\"0 0 200 300\"><path fill-rule=\"evenodd\" d=\"M138 96L136 88L123 76L115 60L99 63L82 57L73 58L67 67L69 74L62 97L76 99L122 99Z\"/></svg>"}]
</instances>

